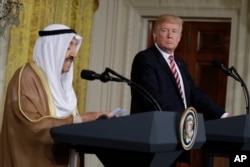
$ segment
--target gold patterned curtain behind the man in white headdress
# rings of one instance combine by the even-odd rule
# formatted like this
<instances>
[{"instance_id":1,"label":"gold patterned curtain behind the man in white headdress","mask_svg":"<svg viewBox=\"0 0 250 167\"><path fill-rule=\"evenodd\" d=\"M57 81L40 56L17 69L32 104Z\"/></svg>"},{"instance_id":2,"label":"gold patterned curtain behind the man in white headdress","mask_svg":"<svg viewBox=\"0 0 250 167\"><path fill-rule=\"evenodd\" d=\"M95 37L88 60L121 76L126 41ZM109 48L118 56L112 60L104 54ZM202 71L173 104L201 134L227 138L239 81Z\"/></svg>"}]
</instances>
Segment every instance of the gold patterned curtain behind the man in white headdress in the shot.
<instances>
[{"instance_id":1,"label":"gold patterned curtain behind the man in white headdress","mask_svg":"<svg viewBox=\"0 0 250 167\"><path fill-rule=\"evenodd\" d=\"M73 83L78 98L78 110L83 113L86 81L80 78L80 72L81 69L88 68L92 17L98 7L98 0L23 0L22 2L24 9L20 16L20 25L11 30L5 85L7 86L18 67L27 61L32 61L38 31L48 24L65 24L83 36L78 58L74 61Z\"/></svg>"}]
</instances>

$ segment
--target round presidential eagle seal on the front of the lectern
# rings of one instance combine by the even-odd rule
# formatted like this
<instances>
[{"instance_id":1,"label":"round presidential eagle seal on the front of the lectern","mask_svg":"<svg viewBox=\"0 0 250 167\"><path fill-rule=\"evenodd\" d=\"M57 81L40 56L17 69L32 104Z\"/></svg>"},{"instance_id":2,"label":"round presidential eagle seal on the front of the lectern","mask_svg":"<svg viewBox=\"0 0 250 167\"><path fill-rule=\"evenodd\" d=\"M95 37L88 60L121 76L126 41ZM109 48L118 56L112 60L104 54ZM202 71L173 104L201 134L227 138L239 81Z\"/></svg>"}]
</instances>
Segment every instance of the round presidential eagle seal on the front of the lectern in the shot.
<instances>
[{"instance_id":1,"label":"round presidential eagle seal on the front of the lectern","mask_svg":"<svg viewBox=\"0 0 250 167\"><path fill-rule=\"evenodd\" d=\"M197 112L193 107L187 108L180 120L179 137L184 150L190 150L195 143L198 131Z\"/></svg>"}]
</instances>

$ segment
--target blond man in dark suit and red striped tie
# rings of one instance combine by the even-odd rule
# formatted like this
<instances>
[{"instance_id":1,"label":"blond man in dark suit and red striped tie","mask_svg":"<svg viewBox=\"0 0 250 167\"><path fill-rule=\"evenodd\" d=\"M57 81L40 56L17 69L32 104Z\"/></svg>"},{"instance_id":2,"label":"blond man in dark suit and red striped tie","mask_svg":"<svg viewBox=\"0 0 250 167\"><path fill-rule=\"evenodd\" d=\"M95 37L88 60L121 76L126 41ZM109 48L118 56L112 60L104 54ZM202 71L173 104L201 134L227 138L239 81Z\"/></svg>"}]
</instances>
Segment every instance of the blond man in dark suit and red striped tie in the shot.
<instances>
[{"instance_id":1,"label":"blond man in dark suit and red striped tie","mask_svg":"<svg viewBox=\"0 0 250 167\"><path fill-rule=\"evenodd\" d=\"M155 44L135 56L131 79L146 89L163 111L183 112L193 106L209 119L227 117L229 114L195 85L186 64L174 54L181 39L182 24L182 19L173 15L162 15L156 19L153 29ZM170 55L174 56L178 83L171 71ZM131 93L131 114L157 110L136 90L131 89Z\"/></svg>"}]
</instances>

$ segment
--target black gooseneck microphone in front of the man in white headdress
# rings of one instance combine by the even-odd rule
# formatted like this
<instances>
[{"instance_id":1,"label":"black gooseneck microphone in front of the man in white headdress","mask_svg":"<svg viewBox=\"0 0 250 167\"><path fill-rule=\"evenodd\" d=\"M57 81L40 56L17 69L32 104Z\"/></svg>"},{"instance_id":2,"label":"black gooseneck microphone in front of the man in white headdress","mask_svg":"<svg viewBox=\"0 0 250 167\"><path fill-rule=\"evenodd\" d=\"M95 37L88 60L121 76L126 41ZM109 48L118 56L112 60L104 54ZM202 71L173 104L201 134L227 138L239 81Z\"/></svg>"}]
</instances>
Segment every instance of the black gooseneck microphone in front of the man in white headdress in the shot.
<instances>
[{"instance_id":1,"label":"black gooseneck microphone in front of the man in white headdress","mask_svg":"<svg viewBox=\"0 0 250 167\"><path fill-rule=\"evenodd\" d=\"M109 73L113 74L116 77L112 77L109 75ZM146 96L149 102L154 104L154 107L158 111L162 111L160 105L156 101L156 99L148 92L146 91L142 86L136 84L132 80L129 80L120 74L116 73L115 71L111 70L110 68L106 67L105 71L102 74L97 74L94 71L91 70L82 70L81 72L81 78L86 80L95 80L98 79L102 82L108 82L108 81L116 81L116 82L126 82L129 86L131 86L133 89L141 93L142 95Z\"/></svg>"}]
</instances>

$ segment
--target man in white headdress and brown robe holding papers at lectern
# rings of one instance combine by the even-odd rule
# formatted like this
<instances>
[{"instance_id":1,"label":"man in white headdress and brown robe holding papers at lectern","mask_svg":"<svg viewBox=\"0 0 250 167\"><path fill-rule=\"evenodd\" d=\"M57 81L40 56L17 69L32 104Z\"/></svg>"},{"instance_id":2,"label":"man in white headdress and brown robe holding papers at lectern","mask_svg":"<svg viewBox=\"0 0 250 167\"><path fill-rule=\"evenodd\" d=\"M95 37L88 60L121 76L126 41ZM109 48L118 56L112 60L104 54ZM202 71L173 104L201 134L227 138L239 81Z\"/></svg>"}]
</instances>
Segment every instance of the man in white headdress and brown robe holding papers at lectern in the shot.
<instances>
[{"instance_id":1,"label":"man in white headdress and brown robe holding papers at lectern","mask_svg":"<svg viewBox=\"0 0 250 167\"><path fill-rule=\"evenodd\" d=\"M50 129L110 116L109 112L77 112L73 60L82 37L61 24L49 25L39 35L34 62L17 69L7 88L0 134L1 167L75 166L70 150L53 143Z\"/></svg>"}]
</instances>

